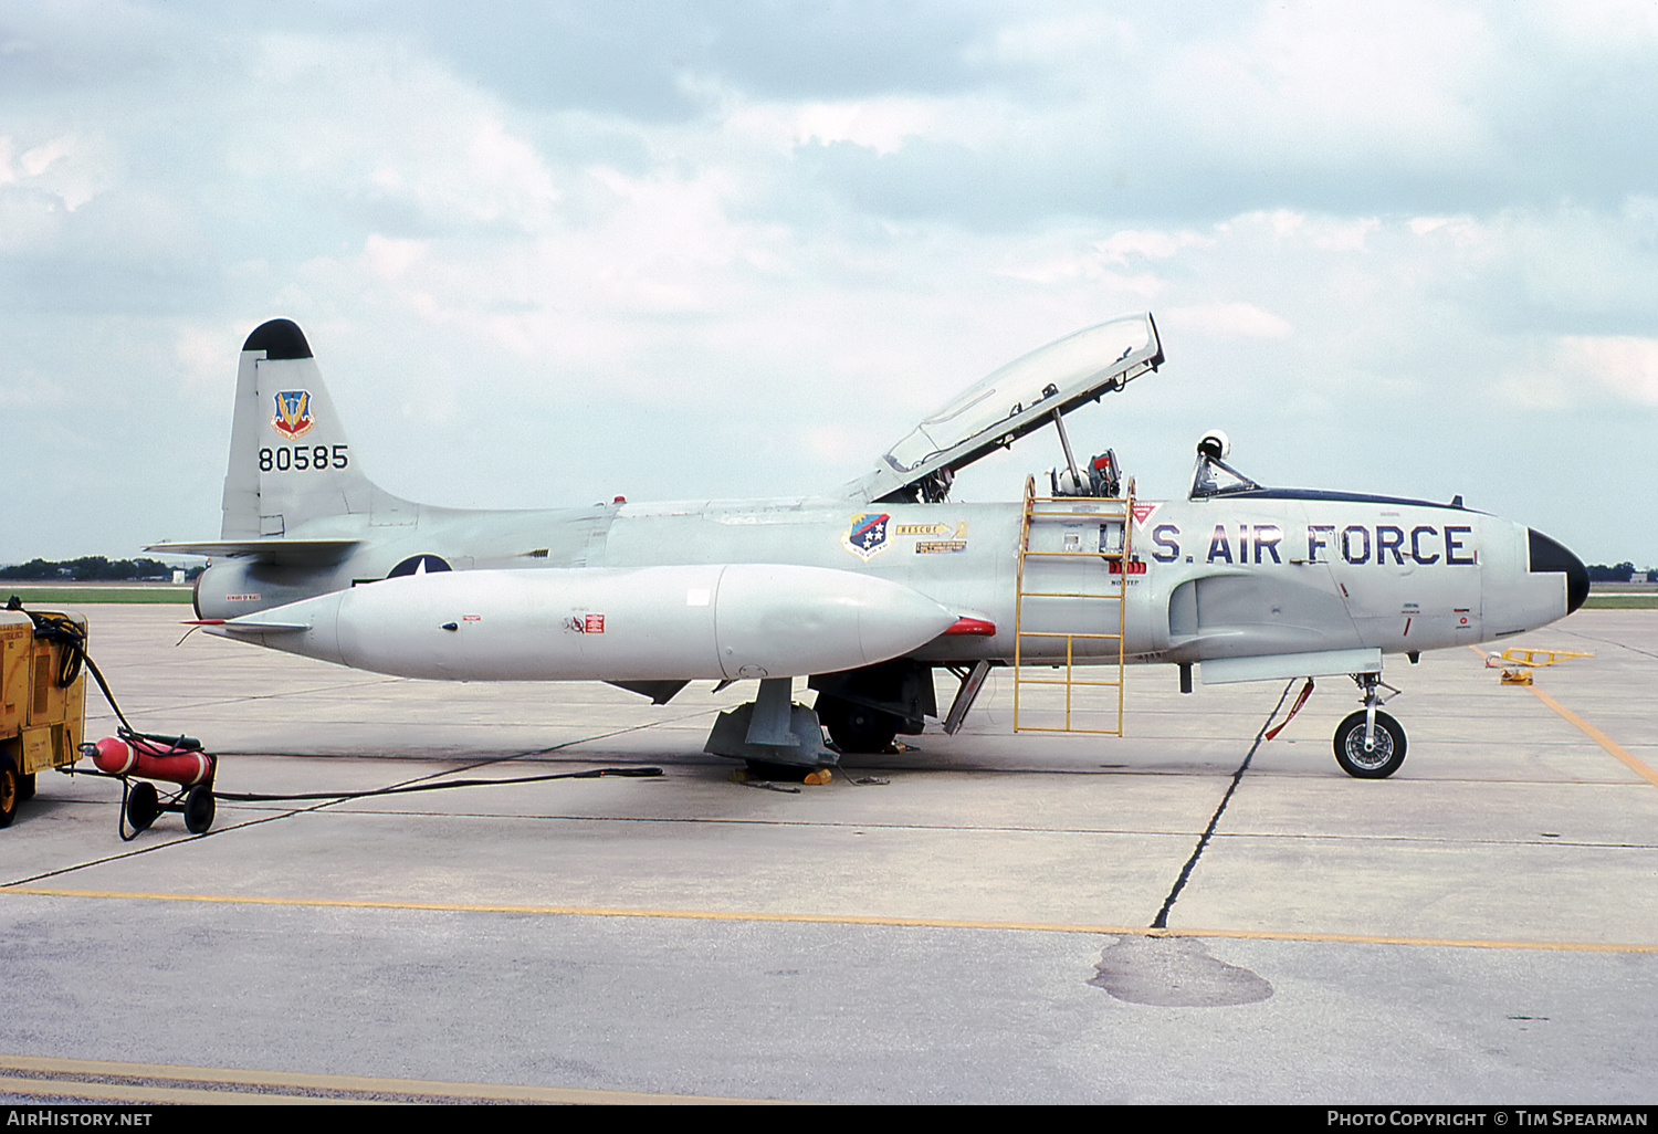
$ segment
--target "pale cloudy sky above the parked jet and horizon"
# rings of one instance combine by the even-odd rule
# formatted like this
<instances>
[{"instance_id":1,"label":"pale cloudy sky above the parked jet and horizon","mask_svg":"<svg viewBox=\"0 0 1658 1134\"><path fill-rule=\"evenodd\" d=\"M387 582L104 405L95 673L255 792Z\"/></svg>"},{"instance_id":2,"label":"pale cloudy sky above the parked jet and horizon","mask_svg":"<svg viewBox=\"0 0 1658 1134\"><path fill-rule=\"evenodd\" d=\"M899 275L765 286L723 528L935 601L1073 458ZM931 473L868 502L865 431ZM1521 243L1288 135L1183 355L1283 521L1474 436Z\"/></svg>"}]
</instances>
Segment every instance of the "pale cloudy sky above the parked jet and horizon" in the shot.
<instances>
[{"instance_id":1,"label":"pale cloudy sky above the parked jet and horizon","mask_svg":"<svg viewBox=\"0 0 1658 1134\"><path fill-rule=\"evenodd\" d=\"M1658 3L0 7L0 562L217 536L277 315L385 487L544 507L829 491L1136 310L1142 496L1222 428L1658 567Z\"/></svg>"}]
</instances>

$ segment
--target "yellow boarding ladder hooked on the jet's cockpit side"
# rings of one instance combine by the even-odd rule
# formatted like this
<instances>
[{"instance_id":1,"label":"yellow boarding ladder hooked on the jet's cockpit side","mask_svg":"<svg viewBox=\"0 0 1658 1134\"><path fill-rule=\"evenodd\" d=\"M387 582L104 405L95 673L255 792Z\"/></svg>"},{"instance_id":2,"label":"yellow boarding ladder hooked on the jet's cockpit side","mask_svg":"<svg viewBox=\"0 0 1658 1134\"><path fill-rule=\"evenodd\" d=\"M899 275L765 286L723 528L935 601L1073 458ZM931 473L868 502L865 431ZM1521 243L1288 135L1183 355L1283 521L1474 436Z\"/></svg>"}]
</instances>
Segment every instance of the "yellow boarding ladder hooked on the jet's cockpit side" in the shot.
<instances>
[{"instance_id":1,"label":"yellow boarding ladder hooked on the jet's cockpit side","mask_svg":"<svg viewBox=\"0 0 1658 1134\"><path fill-rule=\"evenodd\" d=\"M1127 622L1127 572L1132 565L1132 531L1134 531L1134 482L1129 481L1124 499L1101 499L1089 496L1036 496L1036 482L1025 477L1025 521L1020 526L1020 569L1018 594L1013 615L1013 731L1028 733L1101 733L1122 736L1122 643ZM1121 539L1108 536L1116 527ZM1043 539L1046 532L1054 532L1053 539ZM1058 529L1058 531L1054 531ZM1038 549L1031 550L1031 534L1038 532ZM1096 545L1089 547L1089 542ZM1096 570L1086 570L1088 565ZM1040 608L1045 602L1086 602L1114 603L1101 607L1104 618L1089 618L1096 627L1116 627L1106 630L1061 630L1043 628L1026 630L1033 602ZM1036 625L1051 622L1036 620ZM1064 662L1056 663L1056 640L1064 640ZM1086 645L1084 645L1086 643ZM1101 648L1101 643L1103 648ZM1081 645L1081 650L1079 650ZM1078 658L1081 653L1081 658ZM1035 655L1038 660L1028 660ZM1091 671L1103 673L1103 678L1076 676L1076 666L1088 665ZM1114 678L1111 666L1116 666ZM1064 670L1064 676L1035 676L1036 670L1051 673ZM1020 693L1028 686L1061 686L1064 688L1064 724L1031 724L1028 718L1036 711L1048 716L1051 710L1026 706L1026 721L1020 720ZM1081 728L1073 723L1073 705L1081 690L1116 690L1114 728ZM1083 698L1086 710L1104 711L1106 720L1113 720L1109 706L1101 706L1094 698ZM1094 703L1086 703L1094 701ZM1051 718L1050 718L1051 720Z\"/></svg>"}]
</instances>

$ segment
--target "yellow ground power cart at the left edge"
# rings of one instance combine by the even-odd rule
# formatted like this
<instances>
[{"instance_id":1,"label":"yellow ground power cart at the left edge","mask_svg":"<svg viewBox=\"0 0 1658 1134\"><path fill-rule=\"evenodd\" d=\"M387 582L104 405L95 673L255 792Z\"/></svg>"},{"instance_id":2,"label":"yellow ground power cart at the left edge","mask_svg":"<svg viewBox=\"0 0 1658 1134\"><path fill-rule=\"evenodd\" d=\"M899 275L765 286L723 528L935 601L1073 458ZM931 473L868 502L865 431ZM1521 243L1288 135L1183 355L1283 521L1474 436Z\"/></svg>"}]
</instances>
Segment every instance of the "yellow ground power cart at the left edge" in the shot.
<instances>
[{"instance_id":1,"label":"yellow ground power cart at the left edge","mask_svg":"<svg viewBox=\"0 0 1658 1134\"><path fill-rule=\"evenodd\" d=\"M86 640L86 618L63 610L36 615L73 623ZM0 827L35 794L35 776L73 764L86 721L86 671L65 635L41 637L23 610L0 610ZM65 681L68 678L68 681Z\"/></svg>"}]
</instances>

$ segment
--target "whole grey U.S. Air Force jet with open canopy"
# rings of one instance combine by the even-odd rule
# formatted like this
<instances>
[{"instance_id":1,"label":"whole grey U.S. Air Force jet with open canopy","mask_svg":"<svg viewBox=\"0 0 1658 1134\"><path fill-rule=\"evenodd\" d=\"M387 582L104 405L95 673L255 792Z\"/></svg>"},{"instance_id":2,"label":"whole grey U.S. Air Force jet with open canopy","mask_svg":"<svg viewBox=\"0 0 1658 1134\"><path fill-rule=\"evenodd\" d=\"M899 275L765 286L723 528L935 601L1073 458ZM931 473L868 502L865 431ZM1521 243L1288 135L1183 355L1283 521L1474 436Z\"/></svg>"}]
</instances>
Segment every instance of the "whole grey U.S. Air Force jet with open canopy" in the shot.
<instances>
[{"instance_id":1,"label":"whole grey U.S. Air Force jet with open canopy","mask_svg":"<svg viewBox=\"0 0 1658 1134\"><path fill-rule=\"evenodd\" d=\"M1406 751L1379 711L1384 655L1582 605L1572 552L1461 497L1263 487L1219 431L1184 499L1139 499L1111 451L1079 464L1064 416L1162 361L1149 313L1081 330L821 497L458 511L368 479L305 335L274 320L242 345L221 537L148 550L212 557L196 584L211 633L340 665L602 680L658 705L695 680L758 680L706 751L796 768L880 751L927 718L953 733L991 666L1013 673L1015 729L1121 734L1122 666L1161 662L1182 691L1194 665L1205 685L1350 675L1363 710L1336 729L1336 761L1383 778ZM960 469L1048 426L1064 464L1023 501L950 501ZM937 670L958 680L943 715ZM793 703L802 675L812 708Z\"/></svg>"}]
</instances>

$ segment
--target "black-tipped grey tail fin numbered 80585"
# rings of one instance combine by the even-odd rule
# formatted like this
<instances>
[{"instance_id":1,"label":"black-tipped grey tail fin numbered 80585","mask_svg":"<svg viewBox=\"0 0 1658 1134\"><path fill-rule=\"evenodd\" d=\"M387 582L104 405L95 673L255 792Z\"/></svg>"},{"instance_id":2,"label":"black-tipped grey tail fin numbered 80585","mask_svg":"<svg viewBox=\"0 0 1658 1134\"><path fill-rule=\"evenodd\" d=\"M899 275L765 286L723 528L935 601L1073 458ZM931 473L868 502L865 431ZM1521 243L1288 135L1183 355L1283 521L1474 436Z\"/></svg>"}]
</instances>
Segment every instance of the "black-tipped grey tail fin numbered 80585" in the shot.
<instances>
[{"instance_id":1,"label":"black-tipped grey tail fin numbered 80585","mask_svg":"<svg viewBox=\"0 0 1658 1134\"><path fill-rule=\"evenodd\" d=\"M418 511L363 474L298 325L257 327L235 371L221 539L343 536L363 524L413 524ZM317 521L332 517L350 519L320 532Z\"/></svg>"}]
</instances>

